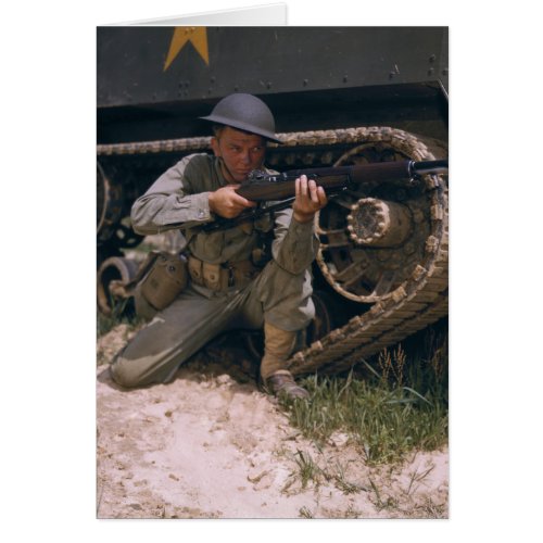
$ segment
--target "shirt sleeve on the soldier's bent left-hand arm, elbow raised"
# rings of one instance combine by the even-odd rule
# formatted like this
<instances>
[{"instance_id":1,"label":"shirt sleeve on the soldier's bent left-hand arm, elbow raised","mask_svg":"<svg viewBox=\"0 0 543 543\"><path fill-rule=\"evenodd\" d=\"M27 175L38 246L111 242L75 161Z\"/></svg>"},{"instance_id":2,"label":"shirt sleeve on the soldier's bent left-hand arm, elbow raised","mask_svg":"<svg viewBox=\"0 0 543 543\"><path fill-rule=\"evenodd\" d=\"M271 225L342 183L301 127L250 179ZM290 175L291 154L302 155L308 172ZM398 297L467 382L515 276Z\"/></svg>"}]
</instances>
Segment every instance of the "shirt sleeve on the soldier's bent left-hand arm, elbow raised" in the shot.
<instances>
[{"instance_id":1,"label":"shirt sleeve on the soldier's bent left-hand arm, elbow raised","mask_svg":"<svg viewBox=\"0 0 543 543\"><path fill-rule=\"evenodd\" d=\"M134 203L134 230L146 236L211 220L212 165L211 156L192 154L162 174Z\"/></svg>"}]
</instances>

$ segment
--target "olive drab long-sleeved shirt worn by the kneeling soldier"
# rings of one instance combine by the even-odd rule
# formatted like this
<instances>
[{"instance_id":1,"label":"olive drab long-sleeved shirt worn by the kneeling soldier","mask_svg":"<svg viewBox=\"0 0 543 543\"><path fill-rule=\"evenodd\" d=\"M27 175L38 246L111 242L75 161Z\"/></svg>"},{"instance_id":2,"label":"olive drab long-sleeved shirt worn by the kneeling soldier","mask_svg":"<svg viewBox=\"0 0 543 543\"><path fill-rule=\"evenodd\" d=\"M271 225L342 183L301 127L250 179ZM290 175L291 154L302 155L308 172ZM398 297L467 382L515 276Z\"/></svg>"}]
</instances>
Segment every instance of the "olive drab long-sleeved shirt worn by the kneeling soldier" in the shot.
<instances>
[{"instance_id":1,"label":"olive drab long-sleeved shirt worn by the kneeling soldier","mask_svg":"<svg viewBox=\"0 0 543 543\"><path fill-rule=\"evenodd\" d=\"M318 248L313 220L298 223L291 209L276 212L275 224L263 217L252 228L199 230L198 226L216 218L210 211L209 193L226 185L219 159L205 153L185 156L136 200L132 228L143 236L180 228L190 253L212 264L250 260L260 232L274 228L272 253L276 263L291 274L301 274L311 266Z\"/></svg>"}]
</instances>

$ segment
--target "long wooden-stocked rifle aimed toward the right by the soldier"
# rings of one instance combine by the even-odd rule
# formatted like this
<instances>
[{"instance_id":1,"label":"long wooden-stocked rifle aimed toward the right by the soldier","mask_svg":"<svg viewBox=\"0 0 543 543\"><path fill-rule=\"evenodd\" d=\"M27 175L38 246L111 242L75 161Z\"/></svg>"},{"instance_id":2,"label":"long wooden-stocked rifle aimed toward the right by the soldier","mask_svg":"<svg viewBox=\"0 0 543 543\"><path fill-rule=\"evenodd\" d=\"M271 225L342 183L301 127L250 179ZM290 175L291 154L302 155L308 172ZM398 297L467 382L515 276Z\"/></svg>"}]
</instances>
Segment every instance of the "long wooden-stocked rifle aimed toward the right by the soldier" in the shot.
<instances>
[{"instance_id":1,"label":"long wooden-stocked rifle aimed toward the right by the soldier","mask_svg":"<svg viewBox=\"0 0 543 543\"><path fill-rule=\"evenodd\" d=\"M343 190L354 189L361 184L391 182L408 179L411 182L424 175L439 175L449 171L449 160L439 161L396 161L376 162L355 166L290 169L282 174L267 174L253 169L236 192L248 200L258 202L257 207L244 211L235 218L218 218L202 226L204 231L231 228L267 213L289 207L294 201L295 180L302 176L314 179L327 194L333 195ZM268 204L268 202L274 202Z\"/></svg>"}]
</instances>

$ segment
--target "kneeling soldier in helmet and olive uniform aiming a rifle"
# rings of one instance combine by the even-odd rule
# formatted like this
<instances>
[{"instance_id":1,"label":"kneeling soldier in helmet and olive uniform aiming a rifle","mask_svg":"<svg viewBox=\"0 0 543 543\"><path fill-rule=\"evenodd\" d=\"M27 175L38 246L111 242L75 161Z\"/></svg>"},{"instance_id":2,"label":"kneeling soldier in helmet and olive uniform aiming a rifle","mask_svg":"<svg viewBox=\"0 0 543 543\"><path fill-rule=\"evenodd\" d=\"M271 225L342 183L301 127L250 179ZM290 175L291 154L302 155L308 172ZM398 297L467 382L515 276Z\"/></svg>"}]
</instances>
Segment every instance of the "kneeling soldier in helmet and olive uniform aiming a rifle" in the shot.
<instances>
[{"instance_id":1,"label":"kneeling soldier in helmet and olive uniform aiming a rifle","mask_svg":"<svg viewBox=\"0 0 543 543\"><path fill-rule=\"evenodd\" d=\"M287 361L315 313L310 267L318 240L313 218L327 203L325 191L302 176L292 207L276 212L274 220L261 217L227 230L201 231L217 216L232 218L255 205L235 189L252 169L266 169L266 141L280 142L272 112L251 94L230 94L201 118L213 123L214 155L184 157L131 210L138 233L181 228L190 282L117 356L113 378L124 387L166 382L218 333L264 327L263 381L274 394L307 397ZM269 232L272 260L261 267L255 255Z\"/></svg>"}]
</instances>

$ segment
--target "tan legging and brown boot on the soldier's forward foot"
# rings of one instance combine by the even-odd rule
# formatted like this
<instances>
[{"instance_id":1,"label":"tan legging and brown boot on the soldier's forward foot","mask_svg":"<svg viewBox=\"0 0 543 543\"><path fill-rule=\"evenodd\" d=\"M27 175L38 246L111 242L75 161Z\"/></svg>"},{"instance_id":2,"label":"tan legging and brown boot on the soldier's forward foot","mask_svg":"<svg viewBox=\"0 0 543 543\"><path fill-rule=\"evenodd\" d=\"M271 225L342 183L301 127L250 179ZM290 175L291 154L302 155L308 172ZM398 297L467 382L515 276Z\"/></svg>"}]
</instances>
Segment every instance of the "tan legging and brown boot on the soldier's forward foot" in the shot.
<instances>
[{"instance_id":1,"label":"tan legging and brown boot on the soldier's forward foot","mask_svg":"<svg viewBox=\"0 0 543 543\"><path fill-rule=\"evenodd\" d=\"M289 332L264 324L264 357L261 363L261 376L275 395L279 393L290 397L307 397L310 393L294 382L292 374L287 369L296 342L298 332Z\"/></svg>"}]
</instances>

